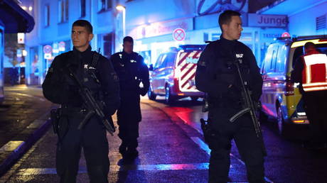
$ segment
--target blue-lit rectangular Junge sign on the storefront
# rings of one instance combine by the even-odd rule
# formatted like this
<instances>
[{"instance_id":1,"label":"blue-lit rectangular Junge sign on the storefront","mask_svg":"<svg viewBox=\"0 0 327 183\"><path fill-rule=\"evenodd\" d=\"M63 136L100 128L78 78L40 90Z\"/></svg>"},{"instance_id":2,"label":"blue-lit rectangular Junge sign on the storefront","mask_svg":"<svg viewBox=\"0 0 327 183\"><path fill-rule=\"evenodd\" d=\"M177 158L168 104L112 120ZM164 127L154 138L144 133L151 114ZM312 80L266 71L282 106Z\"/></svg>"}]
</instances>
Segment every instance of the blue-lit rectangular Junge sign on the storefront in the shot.
<instances>
[{"instance_id":1,"label":"blue-lit rectangular Junge sign on the storefront","mask_svg":"<svg viewBox=\"0 0 327 183\"><path fill-rule=\"evenodd\" d=\"M287 23L287 16L284 15L261 15L256 13L248 14L249 27L286 28Z\"/></svg>"}]
</instances>

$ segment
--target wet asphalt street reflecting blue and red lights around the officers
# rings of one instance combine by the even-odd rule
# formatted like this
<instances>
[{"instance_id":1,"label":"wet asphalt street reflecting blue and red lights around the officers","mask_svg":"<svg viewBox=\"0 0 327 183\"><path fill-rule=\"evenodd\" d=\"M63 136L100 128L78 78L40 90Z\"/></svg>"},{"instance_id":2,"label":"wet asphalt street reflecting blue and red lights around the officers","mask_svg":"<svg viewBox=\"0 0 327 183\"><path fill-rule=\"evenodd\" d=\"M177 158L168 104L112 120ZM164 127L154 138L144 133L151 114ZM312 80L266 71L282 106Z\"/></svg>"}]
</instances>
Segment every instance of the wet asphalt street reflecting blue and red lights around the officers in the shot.
<instances>
[{"instance_id":1,"label":"wet asphalt street reflecting blue and red lights around the officers","mask_svg":"<svg viewBox=\"0 0 327 183\"><path fill-rule=\"evenodd\" d=\"M8 97L5 104L11 106L1 106L1 123L6 119L4 113L16 113L10 109L14 107L18 96L25 94L24 97L18 98L21 103L30 106L36 101L30 98L39 97L41 89L8 87L6 94ZM164 97L159 97L157 101L142 98L143 121L140 125L139 157L133 162L124 162L118 152L120 140L117 133L114 136L107 134L109 182L207 182L210 150L203 142L200 131L199 118L205 116L201 112L201 104L201 101L194 103L184 99L167 106L164 104ZM41 106L44 104L33 103L29 109L40 111ZM46 113L50 105L48 109L43 109ZM35 118L39 116L42 116L42 113L35 113ZM14 123L14 118L11 120L11 123ZM305 135L305 129L294 131L297 140L289 140L282 138L273 124L273 121L269 121L264 122L262 126L268 153L265 157L266 181L325 182L326 150L313 151L302 148L301 142L304 139L299 136ZM4 134L10 135L11 131L2 131L1 139ZM0 181L58 182L55 172L56 143L56 135L52 128L48 128L45 135L12 165ZM230 182L247 182L245 165L235 145L232 147L229 179ZM88 181L85 160L82 158L77 182Z\"/></svg>"}]
</instances>

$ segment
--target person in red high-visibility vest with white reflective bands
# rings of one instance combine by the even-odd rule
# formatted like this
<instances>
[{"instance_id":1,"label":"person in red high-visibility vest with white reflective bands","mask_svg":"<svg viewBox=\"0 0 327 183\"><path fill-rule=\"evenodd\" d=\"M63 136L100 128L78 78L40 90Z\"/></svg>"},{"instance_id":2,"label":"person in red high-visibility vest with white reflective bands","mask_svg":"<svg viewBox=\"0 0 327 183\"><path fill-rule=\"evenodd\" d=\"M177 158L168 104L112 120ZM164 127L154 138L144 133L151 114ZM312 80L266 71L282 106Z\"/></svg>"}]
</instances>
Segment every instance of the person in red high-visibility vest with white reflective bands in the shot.
<instances>
[{"instance_id":1,"label":"person in red high-visibility vest with white reflective bands","mask_svg":"<svg viewBox=\"0 0 327 183\"><path fill-rule=\"evenodd\" d=\"M299 83L304 109L310 122L311 137L307 148L326 148L327 120L327 55L318 52L316 45L307 42L305 54L296 60L291 81Z\"/></svg>"}]
</instances>

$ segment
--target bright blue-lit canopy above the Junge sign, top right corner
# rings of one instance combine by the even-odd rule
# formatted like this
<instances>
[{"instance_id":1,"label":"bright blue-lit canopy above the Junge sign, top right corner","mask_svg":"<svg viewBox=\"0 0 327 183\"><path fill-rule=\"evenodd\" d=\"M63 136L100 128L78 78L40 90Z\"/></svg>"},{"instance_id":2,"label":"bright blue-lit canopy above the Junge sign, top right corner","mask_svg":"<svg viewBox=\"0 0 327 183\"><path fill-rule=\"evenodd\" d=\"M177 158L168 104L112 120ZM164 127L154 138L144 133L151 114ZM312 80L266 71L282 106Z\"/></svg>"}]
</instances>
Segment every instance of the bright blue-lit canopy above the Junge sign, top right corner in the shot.
<instances>
[{"instance_id":1,"label":"bright blue-lit canopy above the Junge sign, top right corner","mask_svg":"<svg viewBox=\"0 0 327 183\"><path fill-rule=\"evenodd\" d=\"M257 11L257 13L291 16L295 13L299 13L325 1L327 0L277 0L269 6L260 9Z\"/></svg>"}]
</instances>

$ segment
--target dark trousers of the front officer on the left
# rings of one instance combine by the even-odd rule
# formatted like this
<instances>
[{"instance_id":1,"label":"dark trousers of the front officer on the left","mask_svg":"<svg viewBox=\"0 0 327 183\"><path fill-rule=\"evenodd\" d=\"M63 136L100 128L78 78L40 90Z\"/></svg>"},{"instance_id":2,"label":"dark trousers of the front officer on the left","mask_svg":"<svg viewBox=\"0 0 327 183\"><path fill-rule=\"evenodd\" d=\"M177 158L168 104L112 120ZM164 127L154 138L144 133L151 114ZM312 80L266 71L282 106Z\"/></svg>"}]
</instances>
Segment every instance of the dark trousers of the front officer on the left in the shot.
<instances>
[{"instance_id":1,"label":"dark trousers of the front officer on the left","mask_svg":"<svg viewBox=\"0 0 327 183\"><path fill-rule=\"evenodd\" d=\"M76 182L81 149L83 148L90 182L108 182L109 146L106 130L96 116L82 130L80 113L68 113L60 118L56 168L60 182Z\"/></svg>"}]
</instances>

